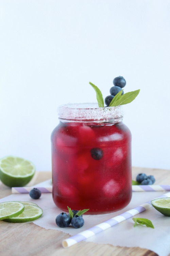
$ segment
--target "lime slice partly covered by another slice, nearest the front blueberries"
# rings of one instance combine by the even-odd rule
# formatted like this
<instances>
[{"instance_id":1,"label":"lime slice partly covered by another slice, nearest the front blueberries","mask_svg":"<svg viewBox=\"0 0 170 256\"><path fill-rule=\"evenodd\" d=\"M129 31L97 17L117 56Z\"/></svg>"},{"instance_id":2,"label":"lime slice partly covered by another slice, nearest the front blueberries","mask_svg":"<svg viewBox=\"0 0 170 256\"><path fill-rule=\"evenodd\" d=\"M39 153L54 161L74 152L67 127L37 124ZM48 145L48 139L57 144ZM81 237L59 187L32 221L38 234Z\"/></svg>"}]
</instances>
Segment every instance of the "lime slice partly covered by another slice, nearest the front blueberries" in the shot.
<instances>
[{"instance_id":1,"label":"lime slice partly covered by another slice, nearest the front blueberries","mask_svg":"<svg viewBox=\"0 0 170 256\"><path fill-rule=\"evenodd\" d=\"M43 210L36 205L25 205L24 211L14 218L3 219L6 222L28 222L38 219L43 214Z\"/></svg>"}]
</instances>

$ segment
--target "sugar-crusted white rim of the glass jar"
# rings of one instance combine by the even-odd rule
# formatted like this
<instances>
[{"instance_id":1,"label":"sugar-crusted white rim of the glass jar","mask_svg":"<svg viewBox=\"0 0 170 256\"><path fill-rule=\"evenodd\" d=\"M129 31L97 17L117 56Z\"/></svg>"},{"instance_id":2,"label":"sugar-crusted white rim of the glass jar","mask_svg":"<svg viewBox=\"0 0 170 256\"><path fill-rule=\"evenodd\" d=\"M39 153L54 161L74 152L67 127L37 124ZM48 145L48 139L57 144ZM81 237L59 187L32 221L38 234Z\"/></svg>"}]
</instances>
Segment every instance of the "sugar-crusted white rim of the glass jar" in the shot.
<instances>
[{"instance_id":1,"label":"sugar-crusted white rim of the glass jar","mask_svg":"<svg viewBox=\"0 0 170 256\"><path fill-rule=\"evenodd\" d=\"M123 118L122 106L99 108L97 103L64 104L58 107L58 116L68 121L96 121L120 122Z\"/></svg>"}]
</instances>

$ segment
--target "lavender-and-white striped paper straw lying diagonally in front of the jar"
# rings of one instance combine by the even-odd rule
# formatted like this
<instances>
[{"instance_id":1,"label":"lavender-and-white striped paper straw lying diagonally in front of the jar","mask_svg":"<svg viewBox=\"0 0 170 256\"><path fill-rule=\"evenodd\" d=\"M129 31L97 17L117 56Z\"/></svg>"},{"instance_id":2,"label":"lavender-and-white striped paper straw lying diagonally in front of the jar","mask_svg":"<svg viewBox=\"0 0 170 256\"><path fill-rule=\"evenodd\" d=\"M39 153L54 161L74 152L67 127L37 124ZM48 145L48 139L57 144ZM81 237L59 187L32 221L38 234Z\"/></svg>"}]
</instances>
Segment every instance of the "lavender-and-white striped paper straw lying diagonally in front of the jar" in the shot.
<instances>
[{"instance_id":1,"label":"lavender-and-white striped paper straw lying diagonally in front of the jar","mask_svg":"<svg viewBox=\"0 0 170 256\"><path fill-rule=\"evenodd\" d=\"M161 198L161 197L170 197L170 192L160 196L159 198ZM104 231L107 228L110 228L122 221L125 221L125 219L129 219L129 218L133 217L134 215L136 215L140 212L143 212L151 207L152 207L151 201L143 203L127 212L124 212L116 217L108 219L108 221L102 222L92 228L89 228L85 231L82 231L82 232L76 234L75 236L65 239L62 242L62 245L64 248L68 248L76 243L79 243L89 237L94 236L95 234L98 234L98 233Z\"/></svg>"}]
</instances>

